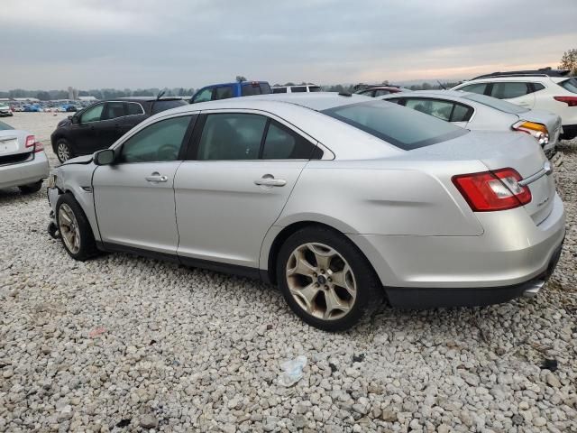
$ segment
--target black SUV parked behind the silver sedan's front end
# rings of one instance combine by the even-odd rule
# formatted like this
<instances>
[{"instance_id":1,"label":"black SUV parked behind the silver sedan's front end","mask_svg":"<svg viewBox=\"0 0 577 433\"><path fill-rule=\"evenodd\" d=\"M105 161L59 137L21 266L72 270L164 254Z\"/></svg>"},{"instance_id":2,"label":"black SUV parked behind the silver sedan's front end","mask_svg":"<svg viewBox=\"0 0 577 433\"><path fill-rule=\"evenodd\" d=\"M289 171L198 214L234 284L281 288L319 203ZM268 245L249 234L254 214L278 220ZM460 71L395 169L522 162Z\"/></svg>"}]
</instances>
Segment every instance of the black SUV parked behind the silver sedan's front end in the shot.
<instances>
[{"instance_id":1,"label":"black SUV parked behind the silver sedan's front end","mask_svg":"<svg viewBox=\"0 0 577 433\"><path fill-rule=\"evenodd\" d=\"M87 106L62 120L50 135L60 162L110 147L112 143L151 115L188 102L180 98L120 97Z\"/></svg>"}]
</instances>

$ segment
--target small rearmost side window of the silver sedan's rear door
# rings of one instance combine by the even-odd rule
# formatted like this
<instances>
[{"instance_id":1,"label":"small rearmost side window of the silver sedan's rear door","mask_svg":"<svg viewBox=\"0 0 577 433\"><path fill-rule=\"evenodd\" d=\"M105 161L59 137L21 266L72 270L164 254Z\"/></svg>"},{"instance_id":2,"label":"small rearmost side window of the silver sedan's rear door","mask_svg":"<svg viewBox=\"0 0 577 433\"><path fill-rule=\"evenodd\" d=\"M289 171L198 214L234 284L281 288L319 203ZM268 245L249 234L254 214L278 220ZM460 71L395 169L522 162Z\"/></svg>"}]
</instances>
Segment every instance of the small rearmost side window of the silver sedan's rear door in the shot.
<instances>
[{"instance_id":1,"label":"small rearmost side window of the silver sedan's rear door","mask_svg":"<svg viewBox=\"0 0 577 433\"><path fill-rule=\"evenodd\" d=\"M315 154L320 159L323 152L305 138L275 121L270 121L262 149L263 160L308 160ZM319 154L320 152L320 154Z\"/></svg>"}]
</instances>

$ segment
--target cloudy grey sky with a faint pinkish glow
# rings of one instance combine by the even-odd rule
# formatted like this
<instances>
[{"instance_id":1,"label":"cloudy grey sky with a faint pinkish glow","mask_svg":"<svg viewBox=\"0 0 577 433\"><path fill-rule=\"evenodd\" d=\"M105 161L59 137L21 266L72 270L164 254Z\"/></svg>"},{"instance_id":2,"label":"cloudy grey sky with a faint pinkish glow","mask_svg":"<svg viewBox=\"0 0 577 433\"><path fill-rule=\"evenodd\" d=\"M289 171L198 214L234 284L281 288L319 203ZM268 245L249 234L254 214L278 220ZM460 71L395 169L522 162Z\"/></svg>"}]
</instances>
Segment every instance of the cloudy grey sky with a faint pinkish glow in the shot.
<instances>
[{"instance_id":1,"label":"cloudy grey sky with a faint pinkish glow","mask_svg":"<svg viewBox=\"0 0 577 433\"><path fill-rule=\"evenodd\" d=\"M0 0L0 89L319 84L556 66L577 0Z\"/></svg>"}]
</instances>

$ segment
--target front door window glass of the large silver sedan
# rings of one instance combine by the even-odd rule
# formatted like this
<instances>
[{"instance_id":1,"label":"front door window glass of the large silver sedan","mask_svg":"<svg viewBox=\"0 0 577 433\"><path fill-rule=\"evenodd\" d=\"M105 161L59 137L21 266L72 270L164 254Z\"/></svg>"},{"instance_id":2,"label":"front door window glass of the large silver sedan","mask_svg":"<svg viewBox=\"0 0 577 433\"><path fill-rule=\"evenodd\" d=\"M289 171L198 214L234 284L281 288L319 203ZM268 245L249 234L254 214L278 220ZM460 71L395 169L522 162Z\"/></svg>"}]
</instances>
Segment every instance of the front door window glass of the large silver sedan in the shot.
<instances>
[{"instance_id":1,"label":"front door window glass of the large silver sedan","mask_svg":"<svg viewBox=\"0 0 577 433\"><path fill-rule=\"evenodd\" d=\"M176 161L190 123L190 115L151 124L124 142L123 162Z\"/></svg>"}]
</instances>

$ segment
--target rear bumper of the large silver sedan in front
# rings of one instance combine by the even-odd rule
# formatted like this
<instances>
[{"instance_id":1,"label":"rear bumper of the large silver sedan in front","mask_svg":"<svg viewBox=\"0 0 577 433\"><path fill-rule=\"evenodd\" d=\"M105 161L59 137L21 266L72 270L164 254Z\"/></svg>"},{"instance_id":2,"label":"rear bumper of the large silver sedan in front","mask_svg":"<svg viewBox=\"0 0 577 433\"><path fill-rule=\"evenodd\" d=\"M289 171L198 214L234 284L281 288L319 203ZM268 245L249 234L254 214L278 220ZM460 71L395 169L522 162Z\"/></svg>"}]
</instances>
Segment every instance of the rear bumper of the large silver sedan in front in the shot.
<instances>
[{"instance_id":1,"label":"rear bumper of the large silver sedan in front","mask_svg":"<svg viewBox=\"0 0 577 433\"><path fill-rule=\"evenodd\" d=\"M480 236L350 237L367 255L391 298L399 299L398 305L413 296L438 299L435 305L439 306L454 305L449 302L452 297L472 297L471 302L460 300L457 305L500 302L518 296L556 263L565 235L558 195L550 215L538 226L523 207L481 213L478 218L485 229ZM472 294L478 292L475 298Z\"/></svg>"}]
</instances>

